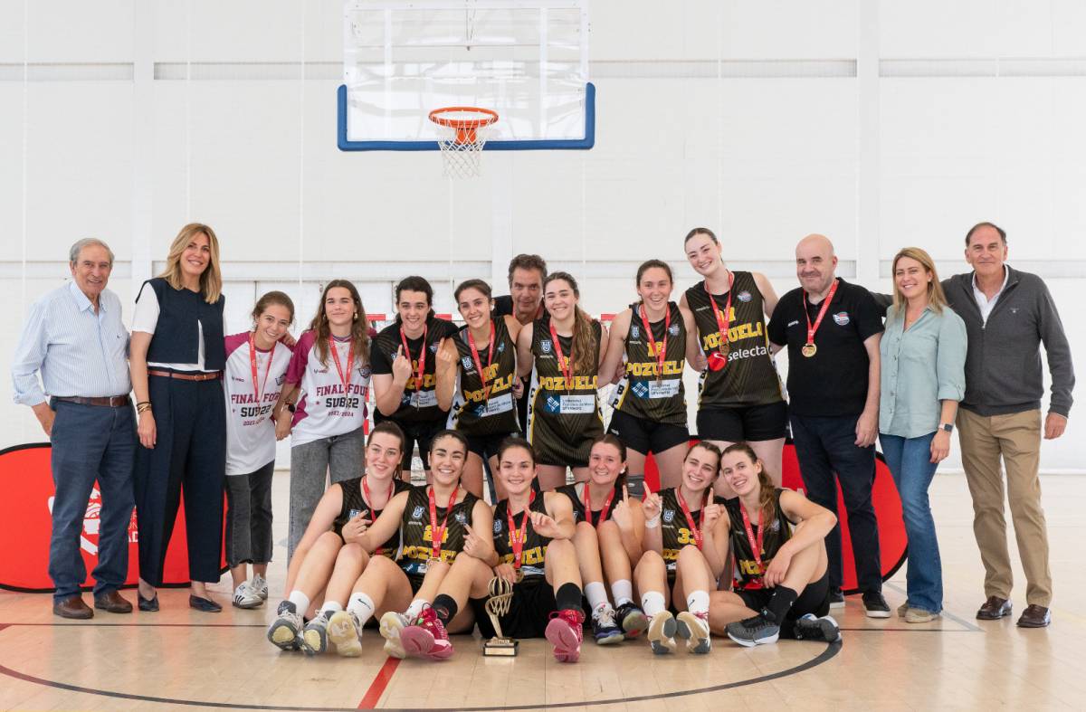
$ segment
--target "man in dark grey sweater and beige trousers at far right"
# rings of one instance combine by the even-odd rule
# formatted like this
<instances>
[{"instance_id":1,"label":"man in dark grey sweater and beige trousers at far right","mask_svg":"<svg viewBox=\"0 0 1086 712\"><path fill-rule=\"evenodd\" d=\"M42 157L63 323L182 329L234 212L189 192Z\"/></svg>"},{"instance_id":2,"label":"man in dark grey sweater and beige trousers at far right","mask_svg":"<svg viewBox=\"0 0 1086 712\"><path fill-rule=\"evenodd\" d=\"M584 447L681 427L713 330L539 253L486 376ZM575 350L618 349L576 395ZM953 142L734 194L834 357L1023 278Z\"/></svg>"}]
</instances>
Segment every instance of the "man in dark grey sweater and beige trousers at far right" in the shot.
<instances>
[{"instance_id":1,"label":"man in dark grey sweater and beige trousers at far right","mask_svg":"<svg viewBox=\"0 0 1086 712\"><path fill-rule=\"evenodd\" d=\"M1040 344L1045 344L1052 378L1046 440L1059 437L1066 428L1075 376L1048 288L1036 275L1006 265L1006 259L1007 233L992 223L981 223L965 236L965 262L973 271L943 282L947 301L969 332L965 397L958 410L958 429L973 497L973 532L985 570L987 600L976 618L996 620L1011 613L1001 458L1026 577L1027 608L1018 624L1044 627L1051 622L1052 581L1037 476L1044 394Z\"/></svg>"}]
</instances>

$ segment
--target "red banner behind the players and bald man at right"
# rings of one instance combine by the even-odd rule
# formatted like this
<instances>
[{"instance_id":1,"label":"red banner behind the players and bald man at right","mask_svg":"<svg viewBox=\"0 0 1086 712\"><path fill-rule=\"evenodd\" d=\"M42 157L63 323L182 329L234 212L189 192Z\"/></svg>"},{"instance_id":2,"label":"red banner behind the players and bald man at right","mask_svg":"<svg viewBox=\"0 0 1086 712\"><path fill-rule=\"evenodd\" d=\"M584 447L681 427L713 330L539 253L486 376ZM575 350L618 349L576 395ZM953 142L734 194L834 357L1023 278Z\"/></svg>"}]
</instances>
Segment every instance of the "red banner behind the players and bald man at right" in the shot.
<instances>
[{"instance_id":1,"label":"red banner behind the players and bald man at right","mask_svg":"<svg viewBox=\"0 0 1086 712\"><path fill-rule=\"evenodd\" d=\"M692 440L691 444L696 442ZM784 446L782 467L784 486L805 492L799 462L796 460L796 448L791 440ZM645 486L654 492L660 486L659 472L652 456L645 461ZM881 453L875 453L875 483L871 490L871 501L875 508L875 518L879 520L879 548L882 551L883 581L886 581L905 563L908 537L905 534L905 520L901 519L901 498L897 494L894 478ZM845 510L841 485L837 485L837 520L841 522L841 549L845 574L843 588L845 593L857 593L853 539L848 532L848 512Z\"/></svg>"}]
</instances>

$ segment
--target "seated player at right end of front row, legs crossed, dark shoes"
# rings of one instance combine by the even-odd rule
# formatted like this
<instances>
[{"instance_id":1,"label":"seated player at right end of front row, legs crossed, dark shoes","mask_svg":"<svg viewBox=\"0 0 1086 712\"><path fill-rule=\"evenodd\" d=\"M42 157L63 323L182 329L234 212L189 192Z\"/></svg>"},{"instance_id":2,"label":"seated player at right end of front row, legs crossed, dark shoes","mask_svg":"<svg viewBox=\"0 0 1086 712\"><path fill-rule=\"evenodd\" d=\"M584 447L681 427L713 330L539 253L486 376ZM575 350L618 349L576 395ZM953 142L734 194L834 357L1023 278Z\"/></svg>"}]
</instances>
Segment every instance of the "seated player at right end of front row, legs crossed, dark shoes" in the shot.
<instances>
[{"instance_id":1,"label":"seated player at right end of front row, legs crossed, dark shoes","mask_svg":"<svg viewBox=\"0 0 1086 712\"><path fill-rule=\"evenodd\" d=\"M737 495L723 520L735 555L735 592L714 592L712 630L742 646L778 637L841 638L830 610L825 535L837 518L798 492L774 487L746 443L724 449L724 481Z\"/></svg>"}]
</instances>

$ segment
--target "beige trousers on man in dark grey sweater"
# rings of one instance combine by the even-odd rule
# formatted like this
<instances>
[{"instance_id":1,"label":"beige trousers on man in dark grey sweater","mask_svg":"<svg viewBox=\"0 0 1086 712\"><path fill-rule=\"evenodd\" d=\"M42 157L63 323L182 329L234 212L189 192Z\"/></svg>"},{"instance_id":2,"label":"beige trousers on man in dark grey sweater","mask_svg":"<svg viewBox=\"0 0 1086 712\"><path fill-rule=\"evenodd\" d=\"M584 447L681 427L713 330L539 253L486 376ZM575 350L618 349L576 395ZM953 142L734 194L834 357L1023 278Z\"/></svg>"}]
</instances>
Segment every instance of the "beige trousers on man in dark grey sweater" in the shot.
<instances>
[{"instance_id":1,"label":"beige trousers on man in dark grey sweater","mask_svg":"<svg viewBox=\"0 0 1086 712\"><path fill-rule=\"evenodd\" d=\"M1003 518L1003 476L1014 521L1019 556L1025 571L1026 602L1048 607L1052 574L1048 569L1048 532L1040 508L1040 411L978 416L958 409L961 461L973 497L973 533L984 562L984 595L1010 598L1013 575Z\"/></svg>"}]
</instances>

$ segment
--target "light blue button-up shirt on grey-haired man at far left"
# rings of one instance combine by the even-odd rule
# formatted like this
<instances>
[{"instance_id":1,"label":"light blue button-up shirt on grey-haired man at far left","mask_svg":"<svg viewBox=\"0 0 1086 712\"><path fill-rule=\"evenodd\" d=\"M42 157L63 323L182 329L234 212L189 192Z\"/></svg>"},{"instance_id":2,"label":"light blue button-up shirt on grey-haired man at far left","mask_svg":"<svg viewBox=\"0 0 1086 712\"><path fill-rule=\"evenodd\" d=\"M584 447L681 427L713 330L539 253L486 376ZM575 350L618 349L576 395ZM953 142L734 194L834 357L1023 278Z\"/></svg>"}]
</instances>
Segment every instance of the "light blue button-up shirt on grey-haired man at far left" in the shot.
<instances>
[{"instance_id":1,"label":"light blue button-up shirt on grey-haired man at far left","mask_svg":"<svg viewBox=\"0 0 1086 712\"><path fill-rule=\"evenodd\" d=\"M36 302L15 348L11 379L15 403L28 406L46 400L46 394L126 395L131 391L128 330L117 295L102 290L94 314L87 295L68 282Z\"/></svg>"}]
</instances>

